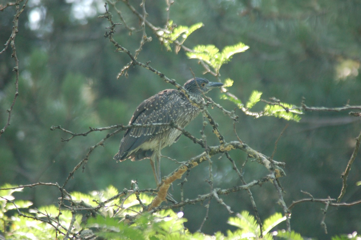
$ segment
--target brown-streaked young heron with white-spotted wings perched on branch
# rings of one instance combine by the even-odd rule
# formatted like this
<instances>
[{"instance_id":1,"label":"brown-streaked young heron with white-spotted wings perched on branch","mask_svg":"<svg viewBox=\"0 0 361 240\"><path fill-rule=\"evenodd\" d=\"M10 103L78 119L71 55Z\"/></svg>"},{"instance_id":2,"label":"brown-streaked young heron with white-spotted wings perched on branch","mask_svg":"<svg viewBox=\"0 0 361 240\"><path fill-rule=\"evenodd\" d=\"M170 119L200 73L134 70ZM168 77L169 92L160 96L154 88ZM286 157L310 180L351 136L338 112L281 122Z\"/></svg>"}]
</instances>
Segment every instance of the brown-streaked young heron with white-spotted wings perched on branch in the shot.
<instances>
[{"instance_id":1,"label":"brown-streaked young heron with white-spotted wings perched on branch","mask_svg":"<svg viewBox=\"0 0 361 240\"><path fill-rule=\"evenodd\" d=\"M205 78L193 78L184 84L193 102L203 101L204 93L212 88L221 87L223 83L209 82ZM184 93L167 89L144 100L135 110L129 125L151 123L174 123L183 128L200 113L200 108L192 103ZM175 143L181 131L170 126L138 127L128 129L121 140L119 152L114 156L117 161L130 158L132 161L151 159L151 165L157 186L161 183L160 156L161 149ZM157 162L157 169L155 167Z\"/></svg>"}]
</instances>

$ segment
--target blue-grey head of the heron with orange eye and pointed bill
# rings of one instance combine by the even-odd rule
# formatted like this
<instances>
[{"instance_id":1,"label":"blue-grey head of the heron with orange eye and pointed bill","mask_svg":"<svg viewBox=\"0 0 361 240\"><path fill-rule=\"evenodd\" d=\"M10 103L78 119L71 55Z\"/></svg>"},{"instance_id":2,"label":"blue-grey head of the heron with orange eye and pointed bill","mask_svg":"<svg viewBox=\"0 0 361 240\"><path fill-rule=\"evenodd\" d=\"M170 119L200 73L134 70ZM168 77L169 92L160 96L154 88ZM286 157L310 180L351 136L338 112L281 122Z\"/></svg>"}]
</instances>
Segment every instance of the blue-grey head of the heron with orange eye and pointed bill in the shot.
<instances>
[{"instance_id":1,"label":"blue-grey head of the heron with orange eye and pointed bill","mask_svg":"<svg viewBox=\"0 0 361 240\"><path fill-rule=\"evenodd\" d=\"M213 88L221 86L223 86L223 83L209 82L208 79L205 78L192 78L184 83L183 87L187 89L191 95L200 96Z\"/></svg>"}]
</instances>

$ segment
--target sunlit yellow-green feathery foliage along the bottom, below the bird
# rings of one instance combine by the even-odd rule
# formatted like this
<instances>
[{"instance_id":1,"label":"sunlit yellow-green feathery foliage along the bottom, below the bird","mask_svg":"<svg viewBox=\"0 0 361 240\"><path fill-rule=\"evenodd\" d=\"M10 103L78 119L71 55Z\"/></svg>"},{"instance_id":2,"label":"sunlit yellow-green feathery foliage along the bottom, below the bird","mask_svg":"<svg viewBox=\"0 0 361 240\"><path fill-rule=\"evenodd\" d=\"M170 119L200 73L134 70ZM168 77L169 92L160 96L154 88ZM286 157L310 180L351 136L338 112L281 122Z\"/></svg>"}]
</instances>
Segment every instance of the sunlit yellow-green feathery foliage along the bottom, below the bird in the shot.
<instances>
[{"instance_id":1,"label":"sunlit yellow-green feathery foliage along the bottom, below the bird","mask_svg":"<svg viewBox=\"0 0 361 240\"><path fill-rule=\"evenodd\" d=\"M247 211L229 218L228 223L236 226L237 230L227 230L226 234L216 232L210 236L202 232L191 233L184 228L187 219L183 218L182 212L167 209L153 214L147 211L138 214L154 198L146 193L139 193L138 196L135 193L118 193L116 188L109 186L105 190L90 193L70 193L71 206L65 200L62 207L48 205L32 209L31 202L14 198L13 193L21 191L21 188L9 184L2 188L15 188L0 190L0 232L9 240L62 240L65 239L69 226L71 228L67 239L261 240L260 227L255 217ZM273 240L274 236L277 239L303 240L294 231L270 232L285 219L281 213L275 213L266 219L262 240ZM332 240L359 238L360 235L354 232L334 236Z\"/></svg>"}]
</instances>

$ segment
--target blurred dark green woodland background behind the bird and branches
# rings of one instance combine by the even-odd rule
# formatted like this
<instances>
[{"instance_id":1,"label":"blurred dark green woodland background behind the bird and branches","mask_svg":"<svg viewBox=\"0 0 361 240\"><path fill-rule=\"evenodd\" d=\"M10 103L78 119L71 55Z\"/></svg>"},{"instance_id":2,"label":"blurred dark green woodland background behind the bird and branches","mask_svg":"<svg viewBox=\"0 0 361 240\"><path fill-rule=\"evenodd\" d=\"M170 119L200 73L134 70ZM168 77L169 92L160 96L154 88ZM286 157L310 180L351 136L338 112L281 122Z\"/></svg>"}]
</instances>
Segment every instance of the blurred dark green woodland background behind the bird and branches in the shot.
<instances>
[{"instance_id":1,"label":"blurred dark green woodland background behind the bird and branches","mask_svg":"<svg viewBox=\"0 0 361 240\"><path fill-rule=\"evenodd\" d=\"M1 2L6 3L2 0ZM137 8L140 1L130 1ZM139 29L139 21L129 9L118 3L118 8L131 27ZM108 6L117 19L116 12ZM148 21L163 27L168 18L166 1L148 0L145 3ZM139 10L141 10L139 8ZM11 125L0 138L0 183L31 184L58 182L63 184L69 172L86 155L88 148L103 139L105 132L93 132L69 142L62 131L51 131L61 125L73 132L86 132L88 127L126 125L136 106L166 88L172 88L157 75L139 66L131 67L129 77L117 79L122 67L129 62L125 53L114 52L114 46L104 33L109 24L104 18L104 2L100 0L44 1L29 0L19 20L16 36L17 56L20 61L19 97L12 112ZM302 97L309 106L335 107L361 105L361 1L359 0L175 0L170 7L170 19L178 25L190 26L203 22L204 27L194 32L185 42L188 47L213 44L219 49L243 42L249 45L244 53L236 54L221 68L221 78L231 78L230 92L243 102L253 90L263 92L262 98L277 97L281 101L301 105ZM0 43L5 43L12 31L14 8L0 12ZM151 30L153 41L143 46L138 60L151 61L151 66L183 84L204 69L196 60L189 60L181 50L178 54L166 51ZM142 31L129 31L117 26L115 39L134 52L139 47ZM14 96L14 61L11 49L0 55L0 123L5 125L6 109ZM228 110L231 102L219 99L213 90L208 96ZM262 104L260 104L262 105ZM261 109L261 108L260 108ZM232 121L217 109L210 109L227 141L236 140ZM308 197L337 198L342 186L340 176L355 147L360 132L360 120L348 112L305 112L299 123L264 117L254 119L236 110L236 125L240 139L253 149L271 156L280 132L275 160L286 162L285 178L280 179L288 205L293 200ZM202 117L186 127L200 138ZM206 127L209 145L218 140ZM77 171L67 185L67 191L88 192L113 185L119 190L129 188L138 179L140 188L155 187L148 160L117 163L113 160L122 134L97 148L82 173ZM186 161L203 152L182 136L162 154ZM238 166L247 160L239 150L231 152ZM174 162L162 160L162 174L173 171ZM259 179L268 171L257 162L248 160L244 167L247 181ZM213 157L214 187L228 188L242 184L232 170L231 163ZM194 198L208 193L205 182L209 176L205 163L190 172L184 195ZM357 157L348 177L348 189L343 201L359 200L361 161ZM179 182L176 182L179 183ZM179 186L172 194L180 200ZM282 211L278 195L271 183L252 189L262 219ZM36 206L56 204L58 190L48 187L26 189L22 198ZM233 211L249 210L252 205L245 192L222 196ZM331 208L327 212L325 235L320 226L324 205L303 203L292 211L292 230L303 236L330 239L335 234L361 232L361 206ZM184 208L186 227L196 231L205 216L203 205ZM212 201L209 219L202 231L213 234L229 228L227 210Z\"/></svg>"}]
</instances>

